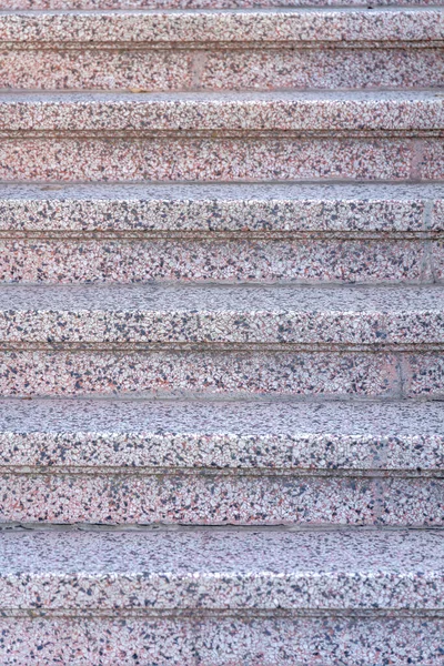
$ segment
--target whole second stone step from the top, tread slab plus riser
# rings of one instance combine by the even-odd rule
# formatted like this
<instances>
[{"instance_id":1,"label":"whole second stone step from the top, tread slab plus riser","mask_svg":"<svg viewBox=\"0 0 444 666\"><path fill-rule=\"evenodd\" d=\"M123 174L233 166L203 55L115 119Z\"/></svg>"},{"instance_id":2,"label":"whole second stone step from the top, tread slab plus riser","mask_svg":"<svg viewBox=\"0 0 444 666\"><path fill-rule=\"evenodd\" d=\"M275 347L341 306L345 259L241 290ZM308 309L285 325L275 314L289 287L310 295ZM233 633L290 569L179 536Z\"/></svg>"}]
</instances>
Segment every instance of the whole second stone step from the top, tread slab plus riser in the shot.
<instances>
[{"instance_id":1,"label":"whole second stone step from the top, tread slab plus riser","mask_svg":"<svg viewBox=\"0 0 444 666\"><path fill-rule=\"evenodd\" d=\"M2 94L3 181L438 181L435 92Z\"/></svg>"}]
</instances>

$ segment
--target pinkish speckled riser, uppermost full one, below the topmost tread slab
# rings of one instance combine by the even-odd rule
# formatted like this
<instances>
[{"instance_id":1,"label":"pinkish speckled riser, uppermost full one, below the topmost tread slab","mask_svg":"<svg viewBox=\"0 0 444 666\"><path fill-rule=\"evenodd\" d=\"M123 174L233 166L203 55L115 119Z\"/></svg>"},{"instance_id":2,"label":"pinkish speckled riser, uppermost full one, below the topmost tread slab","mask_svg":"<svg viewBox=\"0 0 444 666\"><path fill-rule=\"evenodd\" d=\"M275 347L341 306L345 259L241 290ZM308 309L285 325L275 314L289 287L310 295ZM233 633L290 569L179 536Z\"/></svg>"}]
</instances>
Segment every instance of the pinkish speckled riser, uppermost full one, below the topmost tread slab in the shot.
<instances>
[{"instance_id":1,"label":"pinkish speckled riser, uppermost full one, below the topmost tread slab","mask_svg":"<svg viewBox=\"0 0 444 666\"><path fill-rule=\"evenodd\" d=\"M435 88L438 49L23 50L0 56L0 89L282 90Z\"/></svg>"}]
</instances>

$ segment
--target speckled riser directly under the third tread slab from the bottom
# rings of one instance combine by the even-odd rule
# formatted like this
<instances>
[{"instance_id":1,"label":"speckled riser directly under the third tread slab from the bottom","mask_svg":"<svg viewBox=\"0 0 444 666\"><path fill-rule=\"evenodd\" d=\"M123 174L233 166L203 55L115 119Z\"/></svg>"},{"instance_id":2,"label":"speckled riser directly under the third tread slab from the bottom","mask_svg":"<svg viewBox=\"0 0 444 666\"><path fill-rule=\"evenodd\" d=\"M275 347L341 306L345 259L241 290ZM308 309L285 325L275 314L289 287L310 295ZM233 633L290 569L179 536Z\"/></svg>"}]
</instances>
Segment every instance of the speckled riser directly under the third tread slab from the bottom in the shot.
<instances>
[{"instance_id":1,"label":"speckled riser directly under the third tread slab from the bottom","mask_svg":"<svg viewBox=\"0 0 444 666\"><path fill-rule=\"evenodd\" d=\"M441 353L31 351L2 352L0 360L3 396L138 392L437 398L444 394Z\"/></svg>"}]
</instances>

